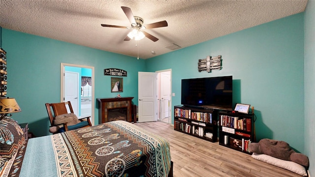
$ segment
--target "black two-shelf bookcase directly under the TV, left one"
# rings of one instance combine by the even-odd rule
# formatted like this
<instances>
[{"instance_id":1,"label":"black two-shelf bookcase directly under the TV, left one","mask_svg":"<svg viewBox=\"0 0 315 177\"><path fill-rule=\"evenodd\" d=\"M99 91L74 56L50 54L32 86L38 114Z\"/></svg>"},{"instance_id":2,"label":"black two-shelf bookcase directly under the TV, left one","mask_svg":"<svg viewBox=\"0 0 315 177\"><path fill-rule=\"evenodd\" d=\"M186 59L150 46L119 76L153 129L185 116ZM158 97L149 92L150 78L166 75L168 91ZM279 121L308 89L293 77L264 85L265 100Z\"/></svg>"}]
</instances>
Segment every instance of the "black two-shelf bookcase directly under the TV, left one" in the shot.
<instances>
[{"instance_id":1,"label":"black two-shelf bookcase directly under the TV, left one","mask_svg":"<svg viewBox=\"0 0 315 177\"><path fill-rule=\"evenodd\" d=\"M188 105L174 106L174 130L217 142L218 111Z\"/></svg>"}]
</instances>

